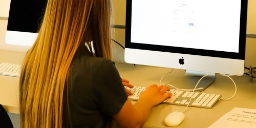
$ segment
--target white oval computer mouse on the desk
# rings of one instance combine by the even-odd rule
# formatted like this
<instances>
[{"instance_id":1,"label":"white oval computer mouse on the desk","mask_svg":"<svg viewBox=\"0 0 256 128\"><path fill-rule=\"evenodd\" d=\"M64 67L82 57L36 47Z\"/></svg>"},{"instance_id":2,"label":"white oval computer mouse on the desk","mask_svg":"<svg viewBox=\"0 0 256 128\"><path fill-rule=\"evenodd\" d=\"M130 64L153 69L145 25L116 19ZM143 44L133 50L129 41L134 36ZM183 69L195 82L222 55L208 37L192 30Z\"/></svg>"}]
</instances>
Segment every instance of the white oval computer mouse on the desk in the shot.
<instances>
[{"instance_id":1,"label":"white oval computer mouse on the desk","mask_svg":"<svg viewBox=\"0 0 256 128\"><path fill-rule=\"evenodd\" d=\"M185 114L182 112L172 112L164 118L164 124L167 126L177 126L185 118Z\"/></svg>"}]
</instances>

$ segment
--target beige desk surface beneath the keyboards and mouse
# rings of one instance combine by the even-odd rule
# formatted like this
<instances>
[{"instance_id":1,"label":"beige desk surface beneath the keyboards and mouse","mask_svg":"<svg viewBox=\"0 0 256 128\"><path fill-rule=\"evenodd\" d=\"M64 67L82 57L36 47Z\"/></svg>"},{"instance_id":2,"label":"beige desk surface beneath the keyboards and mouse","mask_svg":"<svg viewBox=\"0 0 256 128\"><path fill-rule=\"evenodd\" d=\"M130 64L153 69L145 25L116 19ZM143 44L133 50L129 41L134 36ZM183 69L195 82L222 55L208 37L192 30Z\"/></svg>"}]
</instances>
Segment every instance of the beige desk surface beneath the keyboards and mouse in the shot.
<instances>
[{"instance_id":1,"label":"beige desk surface beneath the keyboards and mouse","mask_svg":"<svg viewBox=\"0 0 256 128\"><path fill-rule=\"evenodd\" d=\"M25 53L13 53L0 51L0 62L21 63ZM116 67L122 78L130 80L134 86L147 87L151 84L159 84L163 74L171 69L148 67L139 65L128 65L116 63ZM164 77L162 83L176 83L175 86L181 86L177 81L184 73L183 70L175 69L171 74ZM185 112L184 121L177 127L208 127L218 120L225 113L235 107L239 108L256 108L256 79L249 83L248 76L233 76L237 84L237 94L231 100L220 100L212 109L203 109L188 107ZM19 113L18 110L18 80L16 77L0 75L0 103L10 113ZM234 86L227 77L217 75L214 83L211 84L204 92L221 94L222 98L232 96ZM135 101L133 101L135 102ZM167 127L163 123L166 115L173 111L182 111L185 106L160 104L150 113L143 127Z\"/></svg>"}]
</instances>

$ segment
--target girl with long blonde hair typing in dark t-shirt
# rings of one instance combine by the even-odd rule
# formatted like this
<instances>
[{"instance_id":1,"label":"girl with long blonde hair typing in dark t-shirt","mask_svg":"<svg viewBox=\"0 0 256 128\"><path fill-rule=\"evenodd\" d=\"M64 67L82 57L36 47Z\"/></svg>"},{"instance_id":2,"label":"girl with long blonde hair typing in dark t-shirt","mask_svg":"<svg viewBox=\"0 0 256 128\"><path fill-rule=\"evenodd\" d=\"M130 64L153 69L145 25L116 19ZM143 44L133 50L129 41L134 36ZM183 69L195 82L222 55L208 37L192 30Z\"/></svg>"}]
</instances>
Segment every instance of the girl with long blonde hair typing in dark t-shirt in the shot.
<instances>
[{"instance_id":1,"label":"girl with long blonde hair typing in dark t-shirt","mask_svg":"<svg viewBox=\"0 0 256 128\"><path fill-rule=\"evenodd\" d=\"M20 75L21 127L140 127L168 88L133 105L111 61L111 0L48 0Z\"/></svg>"}]
</instances>

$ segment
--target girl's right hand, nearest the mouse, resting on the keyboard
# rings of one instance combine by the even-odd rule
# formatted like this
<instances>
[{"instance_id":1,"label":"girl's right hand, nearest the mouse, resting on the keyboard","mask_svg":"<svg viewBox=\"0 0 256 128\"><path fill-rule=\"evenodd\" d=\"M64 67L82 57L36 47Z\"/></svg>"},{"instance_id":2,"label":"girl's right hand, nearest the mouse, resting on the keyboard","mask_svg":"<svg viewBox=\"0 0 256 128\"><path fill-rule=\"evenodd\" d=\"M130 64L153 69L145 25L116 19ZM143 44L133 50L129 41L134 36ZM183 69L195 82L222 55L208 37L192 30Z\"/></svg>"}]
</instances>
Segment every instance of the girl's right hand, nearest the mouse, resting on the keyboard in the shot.
<instances>
[{"instance_id":1,"label":"girl's right hand, nearest the mouse, resting on the keyboard","mask_svg":"<svg viewBox=\"0 0 256 128\"><path fill-rule=\"evenodd\" d=\"M139 100L144 100L147 104L149 103L152 105L152 107L154 107L164 101L166 98L172 96L172 94L169 92L165 93L169 90L170 89L166 86L157 86L156 84L153 84L152 86L147 87L145 91L140 93Z\"/></svg>"}]
</instances>

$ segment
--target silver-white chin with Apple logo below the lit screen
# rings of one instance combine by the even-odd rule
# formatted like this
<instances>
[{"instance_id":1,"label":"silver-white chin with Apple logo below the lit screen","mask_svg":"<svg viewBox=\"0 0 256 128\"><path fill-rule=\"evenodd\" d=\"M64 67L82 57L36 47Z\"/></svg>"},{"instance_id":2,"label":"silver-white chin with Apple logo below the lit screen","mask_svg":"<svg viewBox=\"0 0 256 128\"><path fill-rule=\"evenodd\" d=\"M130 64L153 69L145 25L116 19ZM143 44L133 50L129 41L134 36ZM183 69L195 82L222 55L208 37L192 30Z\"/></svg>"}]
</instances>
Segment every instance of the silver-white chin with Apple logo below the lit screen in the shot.
<instances>
[{"instance_id":1,"label":"silver-white chin with Apple logo below the lit screen","mask_svg":"<svg viewBox=\"0 0 256 128\"><path fill-rule=\"evenodd\" d=\"M135 57L136 56L136 57ZM176 68L206 73L223 73L232 75L244 74L244 62L240 59L169 53L150 50L125 48L125 62L139 65ZM180 59L184 64L180 64ZM174 60L174 61L166 61ZM198 62L200 61L200 62ZM234 65L236 63L236 65ZM212 68L216 67L216 68Z\"/></svg>"}]
</instances>

